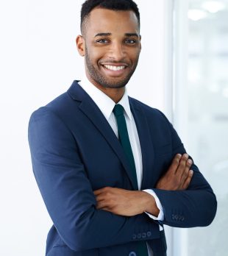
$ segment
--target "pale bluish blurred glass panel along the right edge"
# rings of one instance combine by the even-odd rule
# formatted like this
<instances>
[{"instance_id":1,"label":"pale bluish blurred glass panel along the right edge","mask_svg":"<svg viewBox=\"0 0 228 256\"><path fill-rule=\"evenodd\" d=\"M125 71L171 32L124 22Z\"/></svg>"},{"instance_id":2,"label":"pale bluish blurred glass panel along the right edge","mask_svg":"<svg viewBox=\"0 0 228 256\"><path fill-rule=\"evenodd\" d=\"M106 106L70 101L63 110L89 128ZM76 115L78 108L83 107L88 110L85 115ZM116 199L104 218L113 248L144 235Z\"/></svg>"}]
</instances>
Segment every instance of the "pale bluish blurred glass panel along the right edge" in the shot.
<instances>
[{"instance_id":1,"label":"pale bluish blurred glass panel along the right edge","mask_svg":"<svg viewBox=\"0 0 228 256\"><path fill-rule=\"evenodd\" d=\"M188 151L218 199L213 224L188 230L188 255L221 256L228 237L228 1L189 0L188 18Z\"/></svg>"}]
</instances>

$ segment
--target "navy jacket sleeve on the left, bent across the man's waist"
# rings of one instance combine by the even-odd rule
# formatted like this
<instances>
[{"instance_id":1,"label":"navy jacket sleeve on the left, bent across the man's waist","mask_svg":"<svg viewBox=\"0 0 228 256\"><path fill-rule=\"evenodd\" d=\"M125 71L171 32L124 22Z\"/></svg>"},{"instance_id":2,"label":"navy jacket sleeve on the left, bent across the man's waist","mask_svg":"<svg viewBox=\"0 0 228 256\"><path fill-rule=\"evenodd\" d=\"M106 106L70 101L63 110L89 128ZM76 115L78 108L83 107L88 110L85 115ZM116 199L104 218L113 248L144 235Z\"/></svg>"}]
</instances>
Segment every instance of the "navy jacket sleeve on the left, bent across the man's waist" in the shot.
<instances>
[{"instance_id":1,"label":"navy jacket sleeve on the left, bent across the man's waist","mask_svg":"<svg viewBox=\"0 0 228 256\"><path fill-rule=\"evenodd\" d=\"M96 210L96 197L71 130L48 107L29 121L32 168L60 237L74 251L159 238L146 214L117 216ZM89 146L89 145L88 145ZM143 238L137 236L144 233Z\"/></svg>"}]
</instances>

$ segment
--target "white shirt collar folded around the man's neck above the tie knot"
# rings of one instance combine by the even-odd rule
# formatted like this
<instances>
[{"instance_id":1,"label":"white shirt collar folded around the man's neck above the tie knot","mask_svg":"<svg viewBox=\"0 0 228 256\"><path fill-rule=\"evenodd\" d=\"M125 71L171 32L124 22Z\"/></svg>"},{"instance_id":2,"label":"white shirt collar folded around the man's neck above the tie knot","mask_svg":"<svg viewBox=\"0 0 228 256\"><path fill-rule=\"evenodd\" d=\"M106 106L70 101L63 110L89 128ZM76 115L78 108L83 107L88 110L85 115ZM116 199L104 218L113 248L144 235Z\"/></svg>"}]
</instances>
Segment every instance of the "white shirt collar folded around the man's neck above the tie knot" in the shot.
<instances>
[{"instance_id":1,"label":"white shirt collar folded around the man's neck above the tie knot","mask_svg":"<svg viewBox=\"0 0 228 256\"><path fill-rule=\"evenodd\" d=\"M99 110L101 110L101 113L103 113L104 117L108 120L113 112L113 108L115 107L115 102L113 102L113 99L99 90L99 88L96 88L96 86L93 85L86 76L82 77L79 85L85 90L86 93L88 93L90 98L93 99L93 102L96 103ZM121 104L121 106L124 107L125 113L129 119L132 120L127 90L125 90L124 96L118 102L118 104Z\"/></svg>"}]
</instances>

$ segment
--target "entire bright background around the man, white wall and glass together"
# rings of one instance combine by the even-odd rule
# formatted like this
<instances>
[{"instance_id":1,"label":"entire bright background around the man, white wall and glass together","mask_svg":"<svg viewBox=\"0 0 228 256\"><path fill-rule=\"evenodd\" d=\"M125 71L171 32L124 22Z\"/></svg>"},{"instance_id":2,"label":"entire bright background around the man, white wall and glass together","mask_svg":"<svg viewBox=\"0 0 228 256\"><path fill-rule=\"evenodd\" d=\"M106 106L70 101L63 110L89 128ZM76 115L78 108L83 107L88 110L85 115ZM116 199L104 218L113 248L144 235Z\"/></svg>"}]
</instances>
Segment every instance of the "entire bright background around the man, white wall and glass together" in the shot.
<instances>
[{"instance_id":1,"label":"entire bright background around the man, white wall and glass together","mask_svg":"<svg viewBox=\"0 0 228 256\"><path fill-rule=\"evenodd\" d=\"M162 110L210 182L210 227L165 227L168 256L228 251L228 0L135 0L142 52L129 95ZM0 2L0 244L4 256L45 255L51 219L32 174L27 126L38 107L82 76L83 0Z\"/></svg>"}]
</instances>

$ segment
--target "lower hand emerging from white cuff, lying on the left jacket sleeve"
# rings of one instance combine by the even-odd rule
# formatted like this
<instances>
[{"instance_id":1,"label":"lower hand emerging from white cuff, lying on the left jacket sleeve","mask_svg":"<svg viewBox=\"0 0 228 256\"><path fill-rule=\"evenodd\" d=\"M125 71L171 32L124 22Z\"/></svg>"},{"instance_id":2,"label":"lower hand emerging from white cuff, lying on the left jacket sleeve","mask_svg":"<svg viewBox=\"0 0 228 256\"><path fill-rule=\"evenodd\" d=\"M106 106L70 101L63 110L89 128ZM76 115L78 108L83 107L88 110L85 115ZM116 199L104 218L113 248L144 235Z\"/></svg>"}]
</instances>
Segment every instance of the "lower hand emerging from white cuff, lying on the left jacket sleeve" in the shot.
<instances>
[{"instance_id":1,"label":"lower hand emerging from white cuff, lying on the left jacket sleeve","mask_svg":"<svg viewBox=\"0 0 228 256\"><path fill-rule=\"evenodd\" d=\"M107 210L121 216L135 216L143 212L158 216L155 199L144 191L127 191L121 188L101 188L93 192L99 210Z\"/></svg>"}]
</instances>

